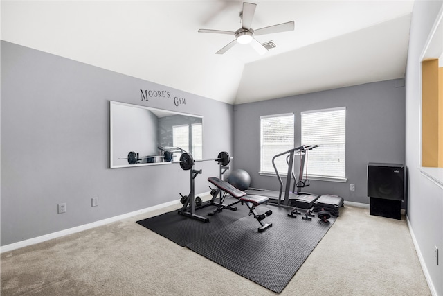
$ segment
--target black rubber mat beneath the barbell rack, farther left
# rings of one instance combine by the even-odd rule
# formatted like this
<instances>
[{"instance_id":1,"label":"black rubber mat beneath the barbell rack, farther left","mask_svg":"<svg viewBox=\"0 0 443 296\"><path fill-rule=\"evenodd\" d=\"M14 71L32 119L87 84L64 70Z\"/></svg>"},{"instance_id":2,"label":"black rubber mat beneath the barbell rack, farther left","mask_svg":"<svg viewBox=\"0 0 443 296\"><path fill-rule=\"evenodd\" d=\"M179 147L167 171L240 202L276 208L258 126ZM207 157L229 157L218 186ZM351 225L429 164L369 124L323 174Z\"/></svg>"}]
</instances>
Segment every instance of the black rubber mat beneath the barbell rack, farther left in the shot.
<instances>
[{"instance_id":1,"label":"black rubber mat beneath the barbell rack, farther left","mask_svg":"<svg viewBox=\"0 0 443 296\"><path fill-rule=\"evenodd\" d=\"M237 200L227 197L224 204L230 204L235 201ZM195 214L208 217L208 223L179 215L178 209L177 211L170 211L159 216L139 220L137 223L184 247L188 243L197 241L207 234L215 232L218 229L223 229L236 220L248 216L249 210L246 205L236 204L235 206L237 207L237 211L224 209L221 213L213 216L207 215L208 212L217 209L215 206L208 206L195 211ZM252 220L253 223L257 223L255 219Z\"/></svg>"}]
</instances>

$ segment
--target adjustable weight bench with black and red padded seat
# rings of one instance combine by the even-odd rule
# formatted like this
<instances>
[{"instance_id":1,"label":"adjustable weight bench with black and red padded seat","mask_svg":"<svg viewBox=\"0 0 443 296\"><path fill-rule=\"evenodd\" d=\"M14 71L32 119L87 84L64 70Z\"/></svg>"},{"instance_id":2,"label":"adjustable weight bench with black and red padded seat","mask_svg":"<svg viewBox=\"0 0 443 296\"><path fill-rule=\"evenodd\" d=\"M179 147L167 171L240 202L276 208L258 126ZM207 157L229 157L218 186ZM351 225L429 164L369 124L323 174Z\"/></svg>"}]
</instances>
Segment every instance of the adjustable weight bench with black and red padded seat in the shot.
<instances>
[{"instance_id":1,"label":"adjustable weight bench with black and red padded seat","mask_svg":"<svg viewBox=\"0 0 443 296\"><path fill-rule=\"evenodd\" d=\"M268 202L269 198L260 195L246 195L246 192L235 188L233 185L224 180L220 180L217 177L208 177L208 181L217 186L218 189L223 191L224 196L226 196L226 194L230 194L233 196L233 198L237 198L237 200L239 200L238 202L242 202L242 204L246 203L246 206L249 208L249 215L253 215L254 218L260 223L260 225L262 225L258 228L258 232L264 232L264 230L272 226L272 223L262 223L262 220L264 220L264 218L272 214L271 210L266 211L266 213L264 214L258 214L257 211L255 211L255 207ZM235 202L234 204L238 202ZM220 202L220 204L221 203L222 202ZM219 211L221 211L222 209L223 208L220 208Z\"/></svg>"}]
</instances>

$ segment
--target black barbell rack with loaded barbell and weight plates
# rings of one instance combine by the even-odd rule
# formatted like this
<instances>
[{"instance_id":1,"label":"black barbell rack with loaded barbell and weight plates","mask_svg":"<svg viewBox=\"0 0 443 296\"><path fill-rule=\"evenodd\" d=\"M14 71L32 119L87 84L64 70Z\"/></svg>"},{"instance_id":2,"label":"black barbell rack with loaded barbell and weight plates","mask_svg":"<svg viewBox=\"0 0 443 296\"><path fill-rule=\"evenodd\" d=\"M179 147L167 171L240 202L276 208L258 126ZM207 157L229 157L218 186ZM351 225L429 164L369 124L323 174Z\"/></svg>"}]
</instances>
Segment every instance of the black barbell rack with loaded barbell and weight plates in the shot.
<instances>
[{"instance_id":1,"label":"black barbell rack with loaded barbell and weight plates","mask_svg":"<svg viewBox=\"0 0 443 296\"><path fill-rule=\"evenodd\" d=\"M232 157L229 156L229 154L225 151L222 151L221 153L219 153L219 155L217 156L217 158L215 159L203 159L202 161L208 161L208 160L214 160L219 164L219 173L220 173L220 178L222 177L222 175L224 174L224 172L226 170L229 169L229 162L230 159ZM200 220L203 222L208 222L209 219L207 217L203 217L203 216L199 216L197 214L195 214L195 211L197 209L201 209L203 207L208 207L210 205L215 205L217 207L223 207L223 200L219 201L219 204L217 204L217 202L215 202L215 198L217 197L218 193L220 192L219 190L215 190L215 191L211 191L211 194L213 195L213 198L211 200L208 200L206 202L202 202L201 198L199 198L199 196L195 197L195 177L197 177L197 175L201 174L201 170L195 170L194 169L194 159L192 158L192 155L190 153L182 153L180 156L180 167L184 170L184 171L190 171L190 193L188 195L181 195L181 199L180 202L183 204L183 207L181 207L181 209L179 209L179 214L189 217L189 218L193 218L196 220ZM236 210L237 208L231 208L233 210Z\"/></svg>"}]
</instances>

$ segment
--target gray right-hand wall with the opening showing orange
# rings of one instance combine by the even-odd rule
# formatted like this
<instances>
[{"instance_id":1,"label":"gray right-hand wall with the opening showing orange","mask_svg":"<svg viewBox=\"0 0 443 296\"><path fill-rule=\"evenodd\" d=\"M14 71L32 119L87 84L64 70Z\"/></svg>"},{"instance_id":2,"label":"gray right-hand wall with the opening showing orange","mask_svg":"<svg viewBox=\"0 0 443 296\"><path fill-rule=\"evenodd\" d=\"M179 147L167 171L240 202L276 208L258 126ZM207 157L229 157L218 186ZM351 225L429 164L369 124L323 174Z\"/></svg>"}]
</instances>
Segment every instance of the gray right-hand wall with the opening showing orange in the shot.
<instances>
[{"instance_id":1,"label":"gray right-hand wall with the opening showing orange","mask_svg":"<svg viewBox=\"0 0 443 296\"><path fill-rule=\"evenodd\" d=\"M408 220L416 250L433 295L443 295L443 183L427 177L421 168L421 55L443 1L415 1L406 67L406 165L409 171ZM443 21L443 20L442 20ZM442 172L443 169L440 169ZM443 174L440 174L440 178ZM442 182L442 181L440 181ZM434 246L440 252L435 262Z\"/></svg>"}]
</instances>

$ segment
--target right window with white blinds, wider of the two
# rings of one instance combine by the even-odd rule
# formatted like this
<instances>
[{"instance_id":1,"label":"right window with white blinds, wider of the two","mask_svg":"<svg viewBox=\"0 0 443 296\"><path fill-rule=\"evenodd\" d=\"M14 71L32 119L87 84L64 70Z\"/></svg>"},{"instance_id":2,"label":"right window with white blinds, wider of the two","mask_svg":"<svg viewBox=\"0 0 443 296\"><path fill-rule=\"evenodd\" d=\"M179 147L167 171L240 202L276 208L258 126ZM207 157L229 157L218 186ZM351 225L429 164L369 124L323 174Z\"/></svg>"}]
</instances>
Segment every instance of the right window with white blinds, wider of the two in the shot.
<instances>
[{"instance_id":1,"label":"right window with white blinds, wider of the two","mask_svg":"<svg viewBox=\"0 0 443 296\"><path fill-rule=\"evenodd\" d=\"M346 108L302 112L302 145L309 150L304 174L308 177L346 177Z\"/></svg>"}]
</instances>

